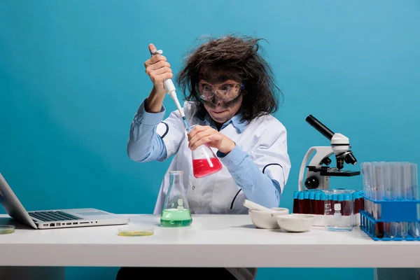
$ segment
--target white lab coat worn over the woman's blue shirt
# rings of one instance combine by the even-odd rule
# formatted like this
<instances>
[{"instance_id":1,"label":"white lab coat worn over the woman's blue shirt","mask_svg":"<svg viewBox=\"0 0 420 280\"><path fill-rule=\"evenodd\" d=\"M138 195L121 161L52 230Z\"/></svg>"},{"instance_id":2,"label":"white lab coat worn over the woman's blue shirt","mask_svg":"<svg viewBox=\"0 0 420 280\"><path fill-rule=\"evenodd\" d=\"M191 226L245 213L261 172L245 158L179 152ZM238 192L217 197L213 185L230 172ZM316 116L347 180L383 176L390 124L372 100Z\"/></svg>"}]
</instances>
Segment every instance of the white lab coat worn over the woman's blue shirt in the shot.
<instances>
[{"instance_id":1,"label":"white lab coat worn over the woman's blue shirt","mask_svg":"<svg viewBox=\"0 0 420 280\"><path fill-rule=\"evenodd\" d=\"M190 125L207 125L204 120L195 116L196 106L185 102L184 113ZM273 116L262 116L249 123L242 133L228 125L220 131L246 153L255 165L270 179L279 182L281 191L287 182L290 171L290 160L287 153L286 128ZM188 148L188 137L179 111L174 111L158 125L157 133L162 137L167 148L167 158L174 156L160 186L154 214L160 214L169 188L169 171L182 170L183 185L186 188L187 200L191 214L247 214L243 206L246 199L226 167L216 174L202 179L193 176L191 150ZM214 153L216 154L216 149ZM237 279L255 279L256 269L229 269Z\"/></svg>"}]
</instances>

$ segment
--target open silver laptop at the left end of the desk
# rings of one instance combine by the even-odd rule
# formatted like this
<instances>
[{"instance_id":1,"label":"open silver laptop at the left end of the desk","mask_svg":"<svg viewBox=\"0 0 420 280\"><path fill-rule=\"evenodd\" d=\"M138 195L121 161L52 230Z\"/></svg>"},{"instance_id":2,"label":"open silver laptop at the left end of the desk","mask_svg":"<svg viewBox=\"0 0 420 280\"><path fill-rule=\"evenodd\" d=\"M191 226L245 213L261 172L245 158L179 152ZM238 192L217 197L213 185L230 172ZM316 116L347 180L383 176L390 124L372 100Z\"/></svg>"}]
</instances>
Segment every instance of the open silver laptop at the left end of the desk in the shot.
<instances>
[{"instance_id":1,"label":"open silver laptop at the left end of the desk","mask_svg":"<svg viewBox=\"0 0 420 280\"><path fill-rule=\"evenodd\" d=\"M34 229L124 225L130 218L94 208L26 211L0 173L0 204L7 214Z\"/></svg>"}]
</instances>

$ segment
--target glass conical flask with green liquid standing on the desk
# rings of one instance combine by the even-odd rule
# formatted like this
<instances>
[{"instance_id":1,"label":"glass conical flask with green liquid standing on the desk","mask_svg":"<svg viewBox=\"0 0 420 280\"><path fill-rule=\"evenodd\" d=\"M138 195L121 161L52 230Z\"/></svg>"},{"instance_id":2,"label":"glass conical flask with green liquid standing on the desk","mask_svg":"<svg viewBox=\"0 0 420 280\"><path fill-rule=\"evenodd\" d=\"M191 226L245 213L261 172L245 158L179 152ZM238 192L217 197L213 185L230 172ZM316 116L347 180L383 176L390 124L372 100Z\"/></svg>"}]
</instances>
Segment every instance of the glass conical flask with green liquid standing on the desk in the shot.
<instances>
[{"instance_id":1,"label":"glass conical flask with green liquid standing on the desk","mask_svg":"<svg viewBox=\"0 0 420 280\"><path fill-rule=\"evenodd\" d=\"M182 171L169 172L170 185L160 216L162 227L186 227L193 223L182 177Z\"/></svg>"}]
</instances>

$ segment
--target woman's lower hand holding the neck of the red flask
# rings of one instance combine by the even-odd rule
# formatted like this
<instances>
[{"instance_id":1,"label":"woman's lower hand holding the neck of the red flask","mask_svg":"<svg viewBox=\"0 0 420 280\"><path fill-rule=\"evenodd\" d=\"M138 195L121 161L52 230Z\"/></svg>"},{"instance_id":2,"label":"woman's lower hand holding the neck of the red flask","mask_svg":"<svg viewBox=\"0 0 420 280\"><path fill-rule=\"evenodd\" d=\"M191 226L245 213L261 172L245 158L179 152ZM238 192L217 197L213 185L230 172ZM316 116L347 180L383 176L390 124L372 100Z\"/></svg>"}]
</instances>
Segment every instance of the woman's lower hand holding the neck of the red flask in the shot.
<instances>
[{"instance_id":1,"label":"woman's lower hand holding the neck of the red flask","mask_svg":"<svg viewBox=\"0 0 420 280\"><path fill-rule=\"evenodd\" d=\"M196 125L188 134L188 148L194 151L202 144L209 144L218 151L228 154L235 148L235 142L209 126Z\"/></svg>"}]
</instances>

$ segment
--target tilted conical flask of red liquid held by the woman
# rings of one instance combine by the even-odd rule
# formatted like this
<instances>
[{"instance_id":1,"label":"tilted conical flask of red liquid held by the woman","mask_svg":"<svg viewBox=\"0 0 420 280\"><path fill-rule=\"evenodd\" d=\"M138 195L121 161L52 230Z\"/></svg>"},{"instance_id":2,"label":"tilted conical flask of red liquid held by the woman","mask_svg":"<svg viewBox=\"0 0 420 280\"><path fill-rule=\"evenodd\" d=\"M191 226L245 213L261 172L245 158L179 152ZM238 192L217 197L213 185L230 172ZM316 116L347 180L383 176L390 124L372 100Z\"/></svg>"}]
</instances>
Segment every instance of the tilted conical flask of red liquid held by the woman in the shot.
<instances>
[{"instance_id":1,"label":"tilted conical flask of red liquid held by the woman","mask_svg":"<svg viewBox=\"0 0 420 280\"><path fill-rule=\"evenodd\" d=\"M211 151L211 148L207 144L192 151L193 155L193 174L195 178L202 178L221 171L222 163Z\"/></svg>"}]
</instances>

